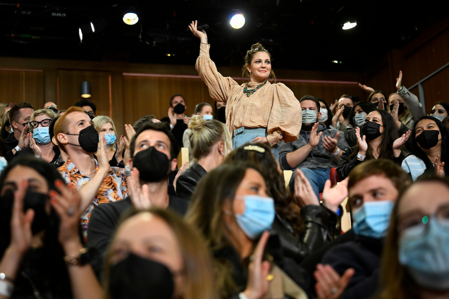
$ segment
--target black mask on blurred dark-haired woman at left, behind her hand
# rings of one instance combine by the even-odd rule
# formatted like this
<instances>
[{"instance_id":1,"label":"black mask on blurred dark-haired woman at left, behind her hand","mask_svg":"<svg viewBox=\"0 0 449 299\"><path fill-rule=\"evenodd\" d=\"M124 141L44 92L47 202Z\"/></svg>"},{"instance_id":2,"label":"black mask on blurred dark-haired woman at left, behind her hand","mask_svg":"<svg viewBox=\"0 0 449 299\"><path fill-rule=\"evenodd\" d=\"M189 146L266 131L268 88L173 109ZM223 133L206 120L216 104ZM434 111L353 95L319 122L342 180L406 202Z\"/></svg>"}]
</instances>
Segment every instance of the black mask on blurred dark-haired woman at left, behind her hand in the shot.
<instances>
[{"instance_id":1,"label":"black mask on blurred dark-haired woman at left, behind her hand","mask_svg":"<svg viewBox=\"0 0 449 299\"><path fill-rule=\"evenodd\" d=\"M50 216L45 212L45 203L48 200L47 194L33 192L27 190L25 198L23 198L23 211L28 209L34 210L33 223L31 224L31 232L39 233L43 229L47 229L50 224ZM2 224L8 227L11 223L11 216L13 211L14 193L9 191L0 198L0 219Z\"/></svg>"}]
</instances>

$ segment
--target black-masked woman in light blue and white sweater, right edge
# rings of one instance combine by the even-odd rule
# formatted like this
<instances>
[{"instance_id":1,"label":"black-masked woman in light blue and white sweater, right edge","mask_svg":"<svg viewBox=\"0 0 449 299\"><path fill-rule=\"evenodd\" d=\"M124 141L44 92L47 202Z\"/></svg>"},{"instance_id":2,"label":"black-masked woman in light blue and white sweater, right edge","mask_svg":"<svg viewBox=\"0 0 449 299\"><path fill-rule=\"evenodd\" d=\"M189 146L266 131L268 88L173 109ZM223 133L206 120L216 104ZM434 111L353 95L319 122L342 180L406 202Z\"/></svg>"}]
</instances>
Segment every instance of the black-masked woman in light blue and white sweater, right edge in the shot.
<instances>
[{"instance_id":1,"label":"black-masked woman in light blue and white sweater, right edge","mask_svg":"<svg viewBox=\"0 0 449 299\"><path fill-rule=\"evenodd\" d=\"M412 155L402 161L402 169L415 181L426 173L444 176L449 169L449 133L431 116L423 116L412 130Z\"/></svg>"}]
</instances>

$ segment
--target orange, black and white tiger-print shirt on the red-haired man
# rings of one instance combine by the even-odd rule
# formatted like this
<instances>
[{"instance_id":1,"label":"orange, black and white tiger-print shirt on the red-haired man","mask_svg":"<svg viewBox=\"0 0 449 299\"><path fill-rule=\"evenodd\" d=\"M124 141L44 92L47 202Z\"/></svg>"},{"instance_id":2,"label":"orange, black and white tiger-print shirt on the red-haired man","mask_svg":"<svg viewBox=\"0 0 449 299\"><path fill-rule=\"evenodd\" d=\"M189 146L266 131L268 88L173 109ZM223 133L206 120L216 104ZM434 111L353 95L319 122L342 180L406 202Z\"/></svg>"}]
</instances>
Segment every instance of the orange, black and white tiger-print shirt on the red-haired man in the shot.
<instances>
[{"instance_id":1,"label":"orange, black and white tiger-print shirt on the red-haired man","mask_svg":"<svg viewBox=\"0 0 449 299\"><path fill-rule=\"evenodd\" d=\"M98 162L95 160L98 170ZM57 169L62 177L64 178L66 184L70 184L81 189L89 180L92 179L83 171L79 170L74 163L67 159L61 167ZM128 196L128 184L126 181L125 169L119 167L110 167L110 171L106 178L101 183L100 189L98 189L97 194L93 198L92 202L89 204L86 211L81 215L81 229L83 232L84 241L87 241L87 227L89 224L90 214L93 209L106 202L116 202Z\"/></svg>"}]
</instances>

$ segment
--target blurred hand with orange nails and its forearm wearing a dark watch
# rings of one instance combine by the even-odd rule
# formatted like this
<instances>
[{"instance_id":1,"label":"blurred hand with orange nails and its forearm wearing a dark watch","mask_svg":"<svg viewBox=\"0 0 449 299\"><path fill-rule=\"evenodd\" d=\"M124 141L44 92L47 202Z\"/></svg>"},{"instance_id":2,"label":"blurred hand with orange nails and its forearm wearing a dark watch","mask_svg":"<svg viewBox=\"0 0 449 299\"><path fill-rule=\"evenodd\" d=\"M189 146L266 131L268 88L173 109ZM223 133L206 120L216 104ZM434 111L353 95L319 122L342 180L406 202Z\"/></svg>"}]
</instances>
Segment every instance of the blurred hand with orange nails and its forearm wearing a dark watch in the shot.
<instances>
[{"instance_id":1,"label":"blurred hand with orange nails and its forearm wearing a dark watch","mask_svg":"<svg viewBox=\"0 0 449 299\"><path fill-rule=\"evenodd\" d=\"M73 298L96 299L101 298L103 290L90 264L79 264L76 258L83 250L79 238L79 218L81 211L81 197L72 186L64 184L61 180L55 181L59 194L50 191L50 202L60 219L58 241L64 250L67 271L70 276Z\"/></svg>"}]
</instances>

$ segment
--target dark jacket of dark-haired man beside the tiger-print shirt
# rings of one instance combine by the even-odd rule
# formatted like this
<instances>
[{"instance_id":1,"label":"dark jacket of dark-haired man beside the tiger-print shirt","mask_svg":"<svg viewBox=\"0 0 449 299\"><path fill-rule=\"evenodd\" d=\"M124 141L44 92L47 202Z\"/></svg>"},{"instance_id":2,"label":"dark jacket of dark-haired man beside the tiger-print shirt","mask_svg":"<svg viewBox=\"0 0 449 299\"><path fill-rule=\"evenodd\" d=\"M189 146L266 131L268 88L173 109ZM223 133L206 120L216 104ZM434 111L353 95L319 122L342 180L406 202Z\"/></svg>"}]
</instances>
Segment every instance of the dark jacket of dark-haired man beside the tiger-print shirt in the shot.
<instances>
[{"instance_id":1,"label":"dark jacket of dark-haired man beside the tiger-print shirt","mask_svg":"<svg viewBox=\"0 0 449 299\"><path fill-rule=\"evenodd\" d=\"M169 198L168 207L184 216L189 201L172 195L169 195ZM96 256L92 260L92 267L100 280L109 242L115 233L120 216L130 208L132 208L132 202L128 196L118 202L108 202L97 206L89 218L87 247L95 251Z\"/></svg>"}]
</instances>

